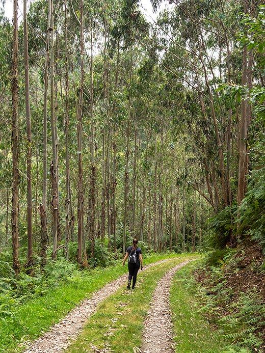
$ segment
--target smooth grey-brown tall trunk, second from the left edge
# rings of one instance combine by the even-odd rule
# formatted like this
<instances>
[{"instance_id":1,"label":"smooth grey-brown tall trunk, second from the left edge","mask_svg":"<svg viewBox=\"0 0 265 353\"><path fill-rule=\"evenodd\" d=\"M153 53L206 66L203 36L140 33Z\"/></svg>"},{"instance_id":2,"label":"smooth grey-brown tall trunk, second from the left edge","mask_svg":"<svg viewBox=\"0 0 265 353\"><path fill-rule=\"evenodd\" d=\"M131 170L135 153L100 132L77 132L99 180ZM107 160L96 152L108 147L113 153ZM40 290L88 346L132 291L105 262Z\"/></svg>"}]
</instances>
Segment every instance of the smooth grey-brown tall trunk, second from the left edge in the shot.
<instances>
[{"instance_id":1,"label":"smooth grey-brown tall trunk, second from the left edge","mask_svg":"<svg viewBox=\"0 0 265 353\"><path fill-rule=\"evenodd\" d=\"M32 133L31 133L31 110L30 110L30 77L29 77L29 51L28 51L28 21L26 15L26 0L23 0L24 19L24 71L25 71L25 107L26 107L26 223L28 232L28 257L26 267L33 265L32 250Z\"/></svg>"}]
</instances>

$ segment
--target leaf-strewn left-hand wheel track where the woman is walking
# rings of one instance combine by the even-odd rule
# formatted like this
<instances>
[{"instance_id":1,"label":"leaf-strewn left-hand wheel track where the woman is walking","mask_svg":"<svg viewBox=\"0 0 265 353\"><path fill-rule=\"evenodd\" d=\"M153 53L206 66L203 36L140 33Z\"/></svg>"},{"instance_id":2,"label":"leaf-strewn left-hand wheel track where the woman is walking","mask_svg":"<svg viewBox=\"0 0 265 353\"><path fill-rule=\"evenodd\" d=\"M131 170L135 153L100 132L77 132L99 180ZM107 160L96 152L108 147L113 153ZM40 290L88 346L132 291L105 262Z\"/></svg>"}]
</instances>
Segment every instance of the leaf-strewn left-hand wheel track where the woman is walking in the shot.
<instances>
[{"instance_id":1,"label":"leaf-strewn left-hand wheel track where the woman is walking","mask_svg":"<svg viewBox=\"0 0 265 353\"><path fill-rule=\"evenodd\" d=\"M165 259L151 263L145 266L145 269L170 260ZM96 291L91 298L84 300L70 311L64 319L52 326L44 336L30 343L24 353L52 353L65 350L71 344L71 341L82 332L87 319L97 310L98 304L115 293L127 278L127 274L122 275Z\"/></svg>"}]
</instances>

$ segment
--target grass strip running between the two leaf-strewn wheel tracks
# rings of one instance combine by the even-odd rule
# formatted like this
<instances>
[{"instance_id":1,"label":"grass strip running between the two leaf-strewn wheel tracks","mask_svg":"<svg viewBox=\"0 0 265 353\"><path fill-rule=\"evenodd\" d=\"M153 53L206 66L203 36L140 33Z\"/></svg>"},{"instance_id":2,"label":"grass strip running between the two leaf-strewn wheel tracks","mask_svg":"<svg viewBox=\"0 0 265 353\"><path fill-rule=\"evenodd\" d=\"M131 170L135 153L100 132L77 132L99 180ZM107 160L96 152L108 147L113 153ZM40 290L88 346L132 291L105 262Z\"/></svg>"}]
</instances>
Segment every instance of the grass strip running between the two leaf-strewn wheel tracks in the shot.
<instances>
[{"instance_id":1,"label":"grass strip running between the two leaf-strewn wheel tracks","mask_svg":"<svg viewBox=\"0 0 265 353\"><path fill-rule=\"evenodd\" d=\"M191 255L180 255L172 261L140 272L135 290L126 287L103 301L88 320L84 332L68 348L69 352L89 352L111 348L117 353L129 353L140 347L143 322L157 281L175 264Z\"/></svg>"}]
</instances>

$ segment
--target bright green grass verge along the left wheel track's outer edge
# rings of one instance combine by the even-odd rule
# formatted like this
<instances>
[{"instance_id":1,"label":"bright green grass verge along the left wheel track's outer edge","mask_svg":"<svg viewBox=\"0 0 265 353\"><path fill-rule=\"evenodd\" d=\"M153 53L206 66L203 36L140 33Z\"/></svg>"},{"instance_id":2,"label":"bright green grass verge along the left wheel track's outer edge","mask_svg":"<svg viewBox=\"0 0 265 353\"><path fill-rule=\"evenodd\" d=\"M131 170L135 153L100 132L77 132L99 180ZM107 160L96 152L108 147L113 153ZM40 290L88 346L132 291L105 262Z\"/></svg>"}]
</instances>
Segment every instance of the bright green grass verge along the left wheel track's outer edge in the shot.
<instances>
[{"instance_id":1,"label":"bright green grass verge along the left wheel track's outer edge","mask_svg":"<svg viewBox=\"0 0 265 353\"><path fill-rule=\"evenodd\" d=\"M176 254L153 254L144 259L144 264L171 257L176 257ZM59 283L57 288L48 290L43 296L19 306L11 305L12 311L0 317L0 351L21 351L23 341L41 336L85 297L91 297L94 291L126 271L126 266L122 267L120 263L83 271Z\"/></svg>"}]
</instances>

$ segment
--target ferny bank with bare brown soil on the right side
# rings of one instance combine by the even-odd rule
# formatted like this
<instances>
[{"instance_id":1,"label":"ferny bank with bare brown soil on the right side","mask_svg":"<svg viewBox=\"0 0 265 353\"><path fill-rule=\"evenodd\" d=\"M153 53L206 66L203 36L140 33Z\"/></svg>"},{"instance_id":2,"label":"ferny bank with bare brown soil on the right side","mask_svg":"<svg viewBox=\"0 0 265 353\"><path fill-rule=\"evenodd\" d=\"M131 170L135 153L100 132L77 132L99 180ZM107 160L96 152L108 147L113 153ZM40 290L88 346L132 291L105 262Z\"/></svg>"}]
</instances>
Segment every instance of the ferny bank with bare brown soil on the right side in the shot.
<instances>
[{"instance_id":1,"label":"ferny bank with bare brown soil on the right side","mask_svg":"<svg viewBox=\"0 0 265 353\"><path fill-rule=\"evenodd\" d=\"M196 278L202 284L202 310L209 321L238 349L263 352L264 270L253 249L256 251L256 246L211 252L205 257L203 269L196 272Z\"/></svg>"}]
</instances>

